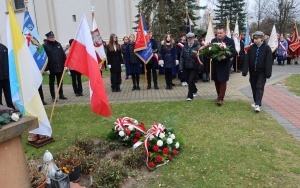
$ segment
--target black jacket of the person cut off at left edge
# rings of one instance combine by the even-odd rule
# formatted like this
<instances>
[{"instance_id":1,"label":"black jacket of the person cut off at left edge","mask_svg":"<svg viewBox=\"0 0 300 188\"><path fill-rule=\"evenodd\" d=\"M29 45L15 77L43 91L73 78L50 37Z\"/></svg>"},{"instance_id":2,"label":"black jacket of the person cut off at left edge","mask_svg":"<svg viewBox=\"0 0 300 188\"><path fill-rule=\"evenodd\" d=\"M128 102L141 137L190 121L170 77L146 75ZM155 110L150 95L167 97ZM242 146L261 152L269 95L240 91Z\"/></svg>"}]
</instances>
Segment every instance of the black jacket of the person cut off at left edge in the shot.
<instances>
[{"instance_id":1,"label":"black jacket of the person cut off at left edge","mask_svg":"<svg viewBox=\"0 0 300 188\"><path fill-rule=\"evenodd\" d=\"M8 50L6 46L0 44L0 80L6 79L9 79Z\"/></svg>"}]
</instances>

